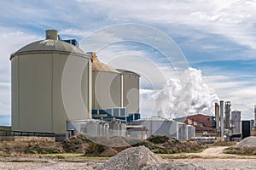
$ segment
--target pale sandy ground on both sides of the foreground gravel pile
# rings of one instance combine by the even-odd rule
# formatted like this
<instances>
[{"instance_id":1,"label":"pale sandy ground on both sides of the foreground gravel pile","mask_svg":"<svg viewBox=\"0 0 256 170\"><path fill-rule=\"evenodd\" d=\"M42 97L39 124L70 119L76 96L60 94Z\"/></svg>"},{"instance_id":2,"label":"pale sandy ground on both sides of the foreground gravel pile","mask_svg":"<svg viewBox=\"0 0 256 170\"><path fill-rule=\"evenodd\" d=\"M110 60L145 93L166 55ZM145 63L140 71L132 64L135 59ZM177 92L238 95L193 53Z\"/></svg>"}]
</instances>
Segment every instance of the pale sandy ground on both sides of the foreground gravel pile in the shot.
<instances>
[{"instance_id":1,"label":"pale sandy ground on both sides of the foreground gravel pile","mask_svg":"<svg viewBox=\"0 0 256 170\"><path fill-rule=\"evenodd\" d=\"M255 169L256 156L236 156L224 154L226 147L212 147L196 154L174 154L162 156L167 161L194 163L206 169ZM185 157L184 157L185 156ZM190 157L191 156L191 157ZM184 158L183 158L184 157ZM93 169L104 159L73 159L60 160L50 158L32 157L0 157L0 169Z\"/></svg>"}]
</instances>

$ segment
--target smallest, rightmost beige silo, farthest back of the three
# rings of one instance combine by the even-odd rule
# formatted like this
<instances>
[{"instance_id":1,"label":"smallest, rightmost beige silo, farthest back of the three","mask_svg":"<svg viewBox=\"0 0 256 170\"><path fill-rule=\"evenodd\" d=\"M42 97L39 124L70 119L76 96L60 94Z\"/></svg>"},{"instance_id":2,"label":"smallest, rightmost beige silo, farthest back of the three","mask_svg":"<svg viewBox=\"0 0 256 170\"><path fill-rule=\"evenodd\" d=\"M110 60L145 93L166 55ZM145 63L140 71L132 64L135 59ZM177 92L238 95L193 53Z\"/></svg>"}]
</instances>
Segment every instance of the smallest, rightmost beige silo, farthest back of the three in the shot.
<instances>
[{"instance_id":1,"label":"smallest, rightmost beige silo, farthest back of the three","mask_svg":"<svg viewBox=\"0 0 256 170\"><path fill-rule=\"evenodd\" d=\"M127 114L139 113L139 89L140 89L140 75L133 71L120 70L123 80L122 86L122 103L123 107L126 107Z\"/></svg>"}]
</instances>

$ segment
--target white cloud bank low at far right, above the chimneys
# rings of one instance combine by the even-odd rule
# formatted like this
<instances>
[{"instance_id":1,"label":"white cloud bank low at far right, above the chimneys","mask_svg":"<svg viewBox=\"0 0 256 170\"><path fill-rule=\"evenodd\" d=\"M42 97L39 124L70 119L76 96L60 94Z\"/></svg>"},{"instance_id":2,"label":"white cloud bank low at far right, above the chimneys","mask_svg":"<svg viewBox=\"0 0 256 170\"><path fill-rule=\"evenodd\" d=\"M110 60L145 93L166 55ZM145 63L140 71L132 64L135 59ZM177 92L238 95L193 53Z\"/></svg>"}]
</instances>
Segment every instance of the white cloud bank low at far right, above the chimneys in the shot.
<instances>
[{"instance_id":1,"label":"white cloud bank low at far right, above the chimneys","mask_svg":"<svg viewBox=\"0 0 256 170\"><path fill-rule=\"evenodd\" d=\"M245 75L247 76L247 75ZM231 110L241 111L242 119L253 119L253 105L256 100L256 83L237 81L240 77L210 76L203 77L209 87L215 89L219 98L231 102Z\"/></svg>"}]
</instances>

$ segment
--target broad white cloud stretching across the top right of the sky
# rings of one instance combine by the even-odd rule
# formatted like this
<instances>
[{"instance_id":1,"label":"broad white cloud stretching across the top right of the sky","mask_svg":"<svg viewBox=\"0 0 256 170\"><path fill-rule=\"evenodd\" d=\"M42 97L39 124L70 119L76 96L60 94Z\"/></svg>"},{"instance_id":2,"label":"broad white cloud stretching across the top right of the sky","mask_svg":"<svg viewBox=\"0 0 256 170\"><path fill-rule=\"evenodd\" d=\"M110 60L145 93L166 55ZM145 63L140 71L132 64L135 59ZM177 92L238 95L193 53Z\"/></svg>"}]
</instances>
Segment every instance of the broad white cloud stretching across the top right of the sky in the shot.
<instances>
[{"instance_id":1,"label":"broad white cloud stretching across the top right of the sky","mask_svg":"<svg viewBox=\"0 0 256 170\"><path fill-rule=\"evenodd\" d=\"M88 5L88 1L79 1ZM256 48L254 1L90 1L108 18L119 22L140 20L149 25L184 25L191 29L223 35L238 44ZM254 24L253 24L254 23ZM245 32L247 32L245 34ZM191 36L191 35L190 35Z\"/></svg>"}]
</instances>

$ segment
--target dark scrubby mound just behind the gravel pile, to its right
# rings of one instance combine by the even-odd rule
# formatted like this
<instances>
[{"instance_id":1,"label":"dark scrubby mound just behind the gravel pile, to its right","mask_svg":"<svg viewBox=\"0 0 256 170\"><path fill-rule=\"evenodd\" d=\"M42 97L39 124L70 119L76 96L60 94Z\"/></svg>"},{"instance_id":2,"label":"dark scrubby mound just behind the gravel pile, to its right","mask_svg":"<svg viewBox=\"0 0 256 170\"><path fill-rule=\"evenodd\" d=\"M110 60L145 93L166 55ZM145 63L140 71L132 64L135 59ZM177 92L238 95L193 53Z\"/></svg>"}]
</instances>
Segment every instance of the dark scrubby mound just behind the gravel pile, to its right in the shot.
<instances>
[{"instance_id":1,"label":"dark scrubby mound just behind the gravel pile, to its right","mask_svg":"<svg viewBox=\"0 0 256 170\"><path fill-rule=\"evenodd\" d=\"M202 148L196 141L178 141L167 136L151 136L143 142L137 144L146 146L154 153L172 154L179 152L194 152Z\"/></svg>"}]
</instances>

